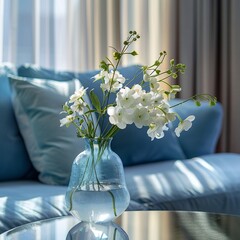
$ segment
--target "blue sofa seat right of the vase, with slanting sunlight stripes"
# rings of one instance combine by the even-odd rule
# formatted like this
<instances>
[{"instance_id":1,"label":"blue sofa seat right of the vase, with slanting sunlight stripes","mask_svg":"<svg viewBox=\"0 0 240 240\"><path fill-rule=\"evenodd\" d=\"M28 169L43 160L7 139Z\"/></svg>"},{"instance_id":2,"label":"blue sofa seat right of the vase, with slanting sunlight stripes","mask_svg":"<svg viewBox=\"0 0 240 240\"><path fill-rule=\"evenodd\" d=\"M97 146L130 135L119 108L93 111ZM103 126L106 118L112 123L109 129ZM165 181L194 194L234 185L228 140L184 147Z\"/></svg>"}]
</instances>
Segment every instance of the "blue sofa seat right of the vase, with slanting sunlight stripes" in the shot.
<instances>
[{"instance_id":1,"label":"blue sofa seat right of the vase, with slanting sunlight stripes","mask_svg":"<svg viewBox=\"0 0 240 240\"><path fill-rule=\"evenodd\" d=\"M240 215L240 155L219 153L126 168L131 199L148 209Z\"/></svg>"}]
</instances>

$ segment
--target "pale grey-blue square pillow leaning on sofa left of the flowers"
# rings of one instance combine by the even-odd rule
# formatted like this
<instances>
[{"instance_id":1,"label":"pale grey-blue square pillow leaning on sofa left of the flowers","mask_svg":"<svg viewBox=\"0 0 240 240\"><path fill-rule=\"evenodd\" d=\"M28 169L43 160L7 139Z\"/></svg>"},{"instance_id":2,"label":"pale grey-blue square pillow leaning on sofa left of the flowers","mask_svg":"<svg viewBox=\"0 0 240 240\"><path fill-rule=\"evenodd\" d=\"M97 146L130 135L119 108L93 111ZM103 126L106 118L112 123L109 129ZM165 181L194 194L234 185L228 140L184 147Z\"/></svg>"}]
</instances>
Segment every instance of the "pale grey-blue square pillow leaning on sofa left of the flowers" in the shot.
<instances>
[{"instance_id":1,"label":"pale grey-blue square pillow leaning on sofa left of the flowers","mask_svg":"<svg viewBox=\"0 0 240 240\"><path fill-rule=\"evenodd\" d=\"M60 128L62 105L81 84L9 76L13 106L30 159L46 184L67 185L74 158L84 149L76 129Z\"/></svg>"}]
</instances>

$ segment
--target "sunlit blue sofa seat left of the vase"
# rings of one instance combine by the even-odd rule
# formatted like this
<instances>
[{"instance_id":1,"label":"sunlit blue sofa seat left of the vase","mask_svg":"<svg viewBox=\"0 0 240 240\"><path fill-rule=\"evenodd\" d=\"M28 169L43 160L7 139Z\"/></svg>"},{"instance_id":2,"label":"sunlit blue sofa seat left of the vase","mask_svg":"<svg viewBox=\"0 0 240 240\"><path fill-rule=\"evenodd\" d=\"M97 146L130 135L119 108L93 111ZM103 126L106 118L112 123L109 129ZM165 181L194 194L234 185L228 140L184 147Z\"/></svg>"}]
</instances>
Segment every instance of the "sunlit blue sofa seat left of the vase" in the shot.
<instances>
[{"instance_id":1,"label":"sunlit blue sofa seat left of the vase","mask_svg":"<svg viewBox=\"0 0 240 240\"><path fill-rule=\"evenodd\" d=\"M69 215L65 206L66 186L38 181L0 183L0 234L22 224ZM131 201L129 210L146 210Z\"/></svg>"}]
</instances>

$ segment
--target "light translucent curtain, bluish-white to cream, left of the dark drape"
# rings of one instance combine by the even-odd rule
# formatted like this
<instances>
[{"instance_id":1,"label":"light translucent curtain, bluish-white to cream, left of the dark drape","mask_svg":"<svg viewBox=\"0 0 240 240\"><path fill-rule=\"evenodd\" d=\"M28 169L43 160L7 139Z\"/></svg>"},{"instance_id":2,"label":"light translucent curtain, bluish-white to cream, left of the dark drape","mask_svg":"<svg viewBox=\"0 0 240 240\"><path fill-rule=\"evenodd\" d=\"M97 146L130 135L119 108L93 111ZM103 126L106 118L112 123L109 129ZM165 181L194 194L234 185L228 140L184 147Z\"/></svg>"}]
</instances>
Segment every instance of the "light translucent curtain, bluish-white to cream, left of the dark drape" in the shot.
<instances>
[{"instance_id":1,"label":"light translucent curtain, bluish-white to cream, left of the dark drape","mask_svg":"<svg viewBox=\"0 0 240 240\"><path fill-rule=\"evenodd\" d=\"M4 33L0 32L0 61L77 71L94 69L111 54L110 46L121 47L129 30L142 36L135 45L140 55L126 58L124 65L154 61L168 46L168 36L162 34L168 28L168 0L0 0L0 3Z\"/></svg>"}]
</instances>

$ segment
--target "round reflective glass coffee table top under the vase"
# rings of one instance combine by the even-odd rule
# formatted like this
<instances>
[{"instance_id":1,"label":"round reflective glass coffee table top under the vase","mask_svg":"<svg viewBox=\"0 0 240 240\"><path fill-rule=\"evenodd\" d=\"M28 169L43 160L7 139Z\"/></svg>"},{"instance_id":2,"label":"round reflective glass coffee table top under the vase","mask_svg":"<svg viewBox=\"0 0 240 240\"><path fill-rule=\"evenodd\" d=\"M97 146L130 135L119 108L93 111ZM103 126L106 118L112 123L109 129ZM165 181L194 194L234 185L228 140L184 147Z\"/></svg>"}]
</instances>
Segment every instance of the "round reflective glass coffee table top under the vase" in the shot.
<instances>
[{"instance_id":1,"label":"round reflective glass coffee table top under the vase","mask_svg":"<svg viewBox=\"0 0 240 240\"><path fill-rule=\"evenodd\" d=\"M0 240L66 240L84 238L70 233L79 228L78 220L72 216L52 218L16 227L0 235ZM130 211L124 212L115 223L128 238L85 239L130 239L130 240L171 240L171 239L240 239L240 217L204 212ZM75 227L74 227L75 226ZM100 226L101 227L101 226ZM71 232L70 229L72 229ZM119 230L118 229L118 230ZM84 229L86 231L86 227ZM70 234L70 235L69 235ZM116 236L116 235L114 235ZM126 237L125 236L125 237Z\"/></svg>"}]
</instances>

